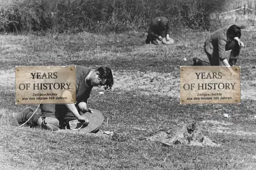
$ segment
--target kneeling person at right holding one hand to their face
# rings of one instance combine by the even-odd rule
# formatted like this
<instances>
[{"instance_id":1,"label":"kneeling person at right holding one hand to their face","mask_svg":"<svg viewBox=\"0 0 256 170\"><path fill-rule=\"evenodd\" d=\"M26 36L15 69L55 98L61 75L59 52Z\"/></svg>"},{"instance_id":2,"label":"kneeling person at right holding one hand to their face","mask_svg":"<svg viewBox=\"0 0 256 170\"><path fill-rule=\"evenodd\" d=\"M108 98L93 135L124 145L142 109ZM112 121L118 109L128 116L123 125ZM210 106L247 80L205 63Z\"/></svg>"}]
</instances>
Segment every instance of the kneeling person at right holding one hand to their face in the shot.
<instances>
[{"instance_id":1,"label":"kneeling person at right holding one hand to their face","mask_svg":"<svg viewBox=\"0 0 256 170\"><path fill-rule=\"evenodd\" d=\"M239 59L239 54L244 43L240 40L241 28L237 25L225 26L212 33L204 42L204 51L209 59L208 65L219 66L221 62L225 66L233 66ZM225 51L229 51L229 59ZM201 60L194 58L193 65L206 64ZM207 64L206 64L207 65Z\"/></svg>"}]
</instances>

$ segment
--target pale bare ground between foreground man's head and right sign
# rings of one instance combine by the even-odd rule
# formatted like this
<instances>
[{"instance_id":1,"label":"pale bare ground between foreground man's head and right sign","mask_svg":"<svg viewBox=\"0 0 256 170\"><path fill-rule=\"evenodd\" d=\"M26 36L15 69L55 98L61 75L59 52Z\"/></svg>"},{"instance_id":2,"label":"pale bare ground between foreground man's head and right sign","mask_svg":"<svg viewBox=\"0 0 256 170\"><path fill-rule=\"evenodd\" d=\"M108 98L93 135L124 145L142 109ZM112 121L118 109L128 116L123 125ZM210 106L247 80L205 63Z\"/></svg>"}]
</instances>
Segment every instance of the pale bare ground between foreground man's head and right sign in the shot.
<instances>
[{"instance_id":1,"label":"pale bare ground between foreground man's head and right sign","mask_svg":"<svg viewBox=\"0 0 256 170\"><path fill-rule=\"evenodd\" d=\"M171 73L117 71L114 75L113 90L139 90L140 93L150 95L167 95L179 97L179 78Z\"/></svg>"}]
</instances>

